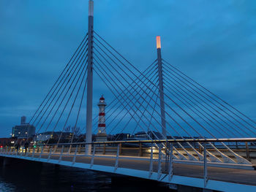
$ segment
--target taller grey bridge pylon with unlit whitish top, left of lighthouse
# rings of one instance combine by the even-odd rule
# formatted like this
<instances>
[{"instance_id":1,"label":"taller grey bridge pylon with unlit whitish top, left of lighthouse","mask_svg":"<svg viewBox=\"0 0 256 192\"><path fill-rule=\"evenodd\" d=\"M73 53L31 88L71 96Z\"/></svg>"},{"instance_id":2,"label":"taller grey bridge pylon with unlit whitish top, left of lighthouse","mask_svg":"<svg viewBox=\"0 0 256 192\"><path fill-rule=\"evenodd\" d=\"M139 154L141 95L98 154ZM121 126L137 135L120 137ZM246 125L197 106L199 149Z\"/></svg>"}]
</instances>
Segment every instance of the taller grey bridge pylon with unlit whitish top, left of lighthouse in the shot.
<instances>
[{"instance_id":1,"label":"taller grey bridge pylon with unlit whitish top, left of lighthouse","mask_svg":"<svg viewBox=\"0 0 256 192\"><path fill-rule=\"evenodd\" d=\"M87 100L86 100L86 142L91 143L92 132L92 87L93 87L93 28L94 28L94 1L89 1L88 18L88 66L87 66ZM86 155L91 154L91 145L86 145Z\"/></svg>"}]
</instances>

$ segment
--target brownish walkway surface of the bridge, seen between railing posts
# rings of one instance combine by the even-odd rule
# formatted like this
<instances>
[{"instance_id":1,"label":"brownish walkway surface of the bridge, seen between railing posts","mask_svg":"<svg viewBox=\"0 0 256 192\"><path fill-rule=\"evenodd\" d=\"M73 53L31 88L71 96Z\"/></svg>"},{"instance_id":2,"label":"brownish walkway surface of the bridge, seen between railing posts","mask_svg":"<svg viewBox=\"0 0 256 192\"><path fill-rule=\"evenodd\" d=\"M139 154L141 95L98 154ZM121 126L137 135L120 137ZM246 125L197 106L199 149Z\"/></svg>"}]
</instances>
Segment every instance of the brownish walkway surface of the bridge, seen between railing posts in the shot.
<instances>
[{"instance_id":1,"label":"brownish walkway surface of the bridge, seen between railing posts","mask_svg":"<svg viewBox=\"0 0 256 192\"><path fill-rule=\"evenodd\" d=\"M13 156L15 158L15 155ZM16 156L17 157L17 156ZM28 155L31 157L31 154ZM60 154L52 154L50 159L59 160ZM39 153L34 154L34 158L38 160ZM42 154L41 158L47 159L48 154ZM72 162L74 155L64 154L62 155L61 161ZM77 155L75 159L76 163L91 164L91 157L85 155ZM115 166L116 157L112 155L97 155L94 157L94 165L102 166ZM118 168L127 168L148 171L150 161L147 158L130 157L127 158L119 156ZM165 171L165 162L162 162L162 173ZM153 171L157 172L157 161L154 161ZM203 178L203 166L200 165L189 165L189 164L173 164L173 174L185 177L196 177ZM248 169L230 169L224 167L213 167L208 166L208 179L219 180L229 183L239 183L244 185L256 185L256 171Z\"/></svg>"}]
</instances>

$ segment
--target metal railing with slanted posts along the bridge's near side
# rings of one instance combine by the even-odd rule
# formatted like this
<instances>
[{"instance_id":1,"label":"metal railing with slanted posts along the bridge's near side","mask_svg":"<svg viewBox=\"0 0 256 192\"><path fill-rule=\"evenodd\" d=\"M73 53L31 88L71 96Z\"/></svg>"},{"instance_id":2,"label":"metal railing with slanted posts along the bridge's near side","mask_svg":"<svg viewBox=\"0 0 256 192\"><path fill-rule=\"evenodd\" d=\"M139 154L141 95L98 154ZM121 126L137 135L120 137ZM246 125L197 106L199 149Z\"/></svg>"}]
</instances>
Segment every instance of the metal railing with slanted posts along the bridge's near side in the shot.
<instances>
[{"instance_id":1,"label":"metal railing with slanted posts along the bridge's near side","mask_svg":"<svg viewBox=\"0 0 256 192\"><path fill-rule=\"evenodd\" d=\"M101 158L112 159L113 172L126 167L122 160L143 161L148 166L148 178L157 173L160 180L167 174L168 180L173 177L173 164L193 164L203 168L205 186L208 180L208 166L248 169L252 167L252 159L256 159L256 138L247 139L167 139L167 140L135 140L115 142L78 142L48 145L33 145L26 149L20 147L4 147L3 155L15 155L23 158L70 161L72 164L90 164L90 168L101 164ZM226 143L226 144L225 144ZM233 145L235 143L235 145ZM231 145L230 145L231 144ZM230 146L239 149L231 150ZM91 154L86 155L86 145L91 145ZM244 147L243 147L244 146ZM250 153L252 155L250 156ZM249 161L250 160L250 161ZM103 161L102 161L103 162ZM122 163L120 166L119 163ZM105 165L105 163L102 163ZM129 168L129 166L127 166ZM134 169L134 168L133 168Z\"/></svg>"}]
</instances>

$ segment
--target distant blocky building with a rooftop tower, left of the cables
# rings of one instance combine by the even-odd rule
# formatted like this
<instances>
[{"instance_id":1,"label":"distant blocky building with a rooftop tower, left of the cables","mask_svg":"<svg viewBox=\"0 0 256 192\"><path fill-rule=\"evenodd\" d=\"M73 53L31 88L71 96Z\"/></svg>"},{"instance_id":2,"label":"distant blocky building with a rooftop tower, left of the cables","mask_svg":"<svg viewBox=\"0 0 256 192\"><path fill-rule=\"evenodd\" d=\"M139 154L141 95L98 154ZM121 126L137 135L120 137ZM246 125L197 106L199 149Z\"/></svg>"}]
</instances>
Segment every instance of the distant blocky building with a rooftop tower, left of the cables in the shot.
<instances>
[{"instance_id":1,"label":"distant blocky building with a rooftop tower, left of the cables","mask_svg":"<svg viewBox=\"0 0 256 192\"><path fill-rule=\"evenodd\" d=\"M26 123L26 117L21 117L20 126L15 126L12 128L12 137L18 139L27 139L34 137L36 128L29 123Z\"/></svg>"}]
</instances>

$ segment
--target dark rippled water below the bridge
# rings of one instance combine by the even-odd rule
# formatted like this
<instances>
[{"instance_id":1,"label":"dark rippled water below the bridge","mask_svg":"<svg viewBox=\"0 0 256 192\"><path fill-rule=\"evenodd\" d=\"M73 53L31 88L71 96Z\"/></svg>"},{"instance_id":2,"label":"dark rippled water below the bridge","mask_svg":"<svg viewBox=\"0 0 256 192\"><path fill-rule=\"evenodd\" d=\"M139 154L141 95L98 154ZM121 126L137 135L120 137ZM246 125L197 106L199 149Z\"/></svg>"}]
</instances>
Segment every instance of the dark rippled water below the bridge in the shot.
<instances>
[{"instance_id":1,"label":"dark rippled water below the bridge","mask_svg":"<svg viewBox=\"0 0 256 192\"><path fill-rule=\"evenodd\" d=\"M86 169L55 166L31 161L0 161L0 191L170 191L161 183L119 177L111 182L110 174Z\"/></svg>"}]
</instances>

